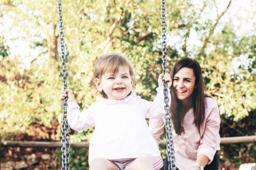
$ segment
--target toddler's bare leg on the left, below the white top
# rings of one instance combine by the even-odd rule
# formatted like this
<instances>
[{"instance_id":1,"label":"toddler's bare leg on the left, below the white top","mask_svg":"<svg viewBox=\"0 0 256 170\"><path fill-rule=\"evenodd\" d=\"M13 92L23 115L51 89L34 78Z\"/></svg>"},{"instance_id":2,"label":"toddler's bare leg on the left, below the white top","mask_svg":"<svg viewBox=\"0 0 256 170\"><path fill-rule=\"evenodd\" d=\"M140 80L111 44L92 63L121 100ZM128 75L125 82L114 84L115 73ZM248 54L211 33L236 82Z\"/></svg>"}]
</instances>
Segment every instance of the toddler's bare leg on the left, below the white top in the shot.
<instances>
[{"instance_id":1,"label":"toddler's bare leg on the left, below the white top","mask_svg":"<svg viewBox=\"0 0 256 170\"><path fill-rule=\"evenodd\" d=\"M118 170L108 159L95 158L90 164L90 170Z\"/></svg>"}]
</instances>

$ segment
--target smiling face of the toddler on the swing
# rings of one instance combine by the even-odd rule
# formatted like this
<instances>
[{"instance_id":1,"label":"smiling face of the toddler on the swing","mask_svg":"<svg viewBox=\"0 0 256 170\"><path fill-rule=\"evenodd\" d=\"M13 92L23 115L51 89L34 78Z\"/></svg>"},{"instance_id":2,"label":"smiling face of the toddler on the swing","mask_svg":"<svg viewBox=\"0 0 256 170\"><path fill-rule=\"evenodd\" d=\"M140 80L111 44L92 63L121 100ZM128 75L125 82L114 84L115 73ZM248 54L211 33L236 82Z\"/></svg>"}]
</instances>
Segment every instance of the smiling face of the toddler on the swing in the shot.
<instances>
[{"instance_id":1,"label":"smiling face of the toddler on the swing","mask_svg":"<svg viewBox=\"0 0 256 170\"><path fill-rule=\"evenodd\" d=\"M95 78L97 90L105 92L108 99L124 99L132 90L132 78L128 66L120 66L116 73L106 72L100 80Z\"/></svg>"}]
</instances>

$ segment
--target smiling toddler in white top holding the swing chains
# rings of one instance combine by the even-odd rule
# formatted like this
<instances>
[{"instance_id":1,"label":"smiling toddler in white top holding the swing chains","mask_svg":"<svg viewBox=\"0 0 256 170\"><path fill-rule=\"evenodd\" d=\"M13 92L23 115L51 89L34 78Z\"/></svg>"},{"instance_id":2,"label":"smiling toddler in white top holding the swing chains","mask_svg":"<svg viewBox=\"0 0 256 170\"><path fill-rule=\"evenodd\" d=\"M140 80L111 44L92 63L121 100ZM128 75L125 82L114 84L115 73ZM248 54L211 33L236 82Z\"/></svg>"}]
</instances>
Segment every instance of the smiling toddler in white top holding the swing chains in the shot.
<instances>
[{"instance_id":1,"label":"smiling toddler in white top holding the swing chains","mask_svg":"<svg viewBox=\"0 0 256 170\"><path fill-rule=\"evenodd\" d=\"M70 90L60 94L61 101L68 97L67 120L72 129L95 127L89 147L90 170L161 169L163 160L145 118L165 115L163 80L169 89L170 74L159 75L154 101L141 99L132 92L132 65L118 53L102 55L95 62L93 74L102 97L86 111L79 111Z\"/></svg>"}]
</instances>

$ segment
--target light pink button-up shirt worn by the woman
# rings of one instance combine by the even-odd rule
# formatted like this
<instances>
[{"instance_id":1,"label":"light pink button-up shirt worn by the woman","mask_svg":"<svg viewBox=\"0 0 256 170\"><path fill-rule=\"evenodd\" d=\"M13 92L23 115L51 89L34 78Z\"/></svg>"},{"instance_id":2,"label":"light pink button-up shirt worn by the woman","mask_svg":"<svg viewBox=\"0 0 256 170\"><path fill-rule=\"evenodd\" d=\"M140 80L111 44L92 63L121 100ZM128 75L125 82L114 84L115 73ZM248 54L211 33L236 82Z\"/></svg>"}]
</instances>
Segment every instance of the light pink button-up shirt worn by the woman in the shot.
<instances>
[{"instance_id":1,"label":"light pink button-up shirt worn by the woman","mask_svg":"<svg viewBox=\"0 0 256 170\"><path fill-rule=\"evenodd\" d=\"M205 154L211 163L216 150L220 150L220 115L218 105L211 97L206 97L205 119L200 127L201 136L197 127L193 124L194 111L191 108L184 117L184 132L181 135L173 129L173 143L175 165L179 169L186 169L196 162L200 154ZM149 127L157 143L164 131L165 118L153 118Z\"/></svg>"}]
</instances>

